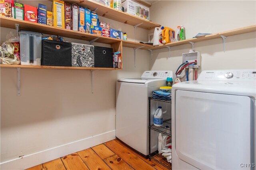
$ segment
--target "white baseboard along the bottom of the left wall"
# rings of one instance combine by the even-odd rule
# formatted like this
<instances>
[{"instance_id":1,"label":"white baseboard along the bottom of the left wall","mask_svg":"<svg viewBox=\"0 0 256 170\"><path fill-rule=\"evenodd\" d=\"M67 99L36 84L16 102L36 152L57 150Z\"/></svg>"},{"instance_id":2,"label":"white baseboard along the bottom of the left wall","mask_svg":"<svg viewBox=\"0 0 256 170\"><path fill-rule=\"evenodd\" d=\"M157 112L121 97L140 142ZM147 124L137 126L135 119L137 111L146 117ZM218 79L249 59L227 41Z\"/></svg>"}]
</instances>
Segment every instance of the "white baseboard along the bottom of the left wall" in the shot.
<instances>
[{"instance_id":1,"label":"white baseboard along the bottom of the left wall","mask_svg":"<svg viewBox=\"0 0 256 170\"><path fill-rule=\"evenodd\" d=\"M79 141L61 145L47 150L42 150L33 154L25 155L21 158L8 160L0 163L1 170L24 170L62 156L84 150L116 138L116 131L109 131Z\"/></svg>"}]
</instances>

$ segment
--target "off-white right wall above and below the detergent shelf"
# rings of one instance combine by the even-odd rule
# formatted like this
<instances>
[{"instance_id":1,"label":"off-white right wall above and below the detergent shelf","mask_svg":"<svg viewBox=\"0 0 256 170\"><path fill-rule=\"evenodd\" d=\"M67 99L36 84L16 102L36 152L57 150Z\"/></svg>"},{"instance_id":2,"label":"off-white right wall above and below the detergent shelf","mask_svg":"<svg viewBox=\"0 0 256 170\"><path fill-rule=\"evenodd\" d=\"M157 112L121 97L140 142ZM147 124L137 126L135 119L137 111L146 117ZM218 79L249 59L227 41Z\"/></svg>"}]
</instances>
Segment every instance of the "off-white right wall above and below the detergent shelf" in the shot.
<instances>
[{"instance_id":1,"label":"off-white right wall above and below the detergent shelf","mask_svg":"<svg viewBox=\"0 0 256 170\"><path fill-rule=\"evenodd\" d=\"M197 33L218 33L256 24L256 1L159 1L150 8L150 19L176 30L186 28L186 39ZM222 38L195 43L194 50L201 52L201 70L256 68L256 34L245 33L227 37L226 52ZM150 62L152 70L176 71L182 63L182 53L192 46L180 45L155 50ZM199 71L200 72L200 71Z\"/></svg>"}]
</instances>

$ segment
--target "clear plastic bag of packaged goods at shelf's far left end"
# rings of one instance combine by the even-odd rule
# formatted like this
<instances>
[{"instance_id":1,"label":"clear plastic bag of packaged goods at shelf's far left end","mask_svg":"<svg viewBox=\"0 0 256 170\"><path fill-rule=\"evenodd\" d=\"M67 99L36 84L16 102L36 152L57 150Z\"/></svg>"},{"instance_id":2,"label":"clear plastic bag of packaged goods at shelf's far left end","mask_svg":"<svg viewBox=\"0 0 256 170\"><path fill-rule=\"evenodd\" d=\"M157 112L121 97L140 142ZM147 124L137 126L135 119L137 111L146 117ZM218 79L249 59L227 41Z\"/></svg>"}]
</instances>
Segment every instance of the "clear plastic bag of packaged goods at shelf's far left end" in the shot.
<instances>
[{"instance_id":1,"label":"clear plastic bag of packaged goods at shelf's far left end","mask_svg":"<svg viewBox=\"0 0 256 170\"><path fill-rule=\"evenodd\" d=\"M19 38L10 31L0 47L0 64L20 64Z\"/></svg>"}]
</instances>

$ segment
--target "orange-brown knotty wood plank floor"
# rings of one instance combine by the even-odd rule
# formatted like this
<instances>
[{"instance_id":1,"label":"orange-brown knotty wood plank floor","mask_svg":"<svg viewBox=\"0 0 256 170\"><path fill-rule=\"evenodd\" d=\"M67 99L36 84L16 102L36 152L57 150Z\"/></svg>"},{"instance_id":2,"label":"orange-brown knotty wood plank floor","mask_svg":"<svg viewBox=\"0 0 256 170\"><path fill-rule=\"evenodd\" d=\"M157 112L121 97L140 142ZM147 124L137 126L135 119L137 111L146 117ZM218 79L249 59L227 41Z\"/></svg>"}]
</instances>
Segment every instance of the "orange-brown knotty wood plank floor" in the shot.
<instances>
[{"instance_id":1,"label":"orange-brown knotty wood plank floor","mask_svg":"<svg viewBox=\"0 0 256 170\"><path fill-rule=\"evenodd\" d=\"M167 170L114 139L27 170ZM170 167L171 169L171 167Z\"/></svg>"}]
</instances>

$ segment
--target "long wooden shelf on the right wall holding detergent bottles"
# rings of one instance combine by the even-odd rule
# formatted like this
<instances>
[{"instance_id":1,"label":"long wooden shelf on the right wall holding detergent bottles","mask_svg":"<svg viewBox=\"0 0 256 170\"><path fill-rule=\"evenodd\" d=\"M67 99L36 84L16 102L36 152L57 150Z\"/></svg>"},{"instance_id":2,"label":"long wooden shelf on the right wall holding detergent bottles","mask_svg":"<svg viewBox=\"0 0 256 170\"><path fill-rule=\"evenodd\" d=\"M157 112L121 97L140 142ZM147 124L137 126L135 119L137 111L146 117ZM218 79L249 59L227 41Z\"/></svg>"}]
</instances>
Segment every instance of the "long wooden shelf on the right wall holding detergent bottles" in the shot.
<instances>
[{"instance_id":1,"label":"long wooden shelf on the right wall holding detergent bottles","mask_svg":"<svg viewBox=\"0 0 256 170\"><path fill-rule=\"evenodd\" d=\"M220 35L224 35L227 37L227 36L231 36L231 35L238 35L238 34L242 34L242 33L254 32L254 31L256 31L256 25L238 28L238 29L232 29L230 31L224 31L224 32L220 32L220 33L210 34L210 35L205 35L203 37L186 39L186 40L182 40L182 41L168 43L166 45L154 46L149 49L152 49L152 50L162 49L162 48L166 48L166 46L173 47L173 46L177 46L177 45L189 44L189 42L195 43L195 42L199 42L199 41L206 41L206 40L210 40L210 39L221 38Z\"/></svg>"}]
</instances>

